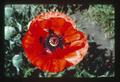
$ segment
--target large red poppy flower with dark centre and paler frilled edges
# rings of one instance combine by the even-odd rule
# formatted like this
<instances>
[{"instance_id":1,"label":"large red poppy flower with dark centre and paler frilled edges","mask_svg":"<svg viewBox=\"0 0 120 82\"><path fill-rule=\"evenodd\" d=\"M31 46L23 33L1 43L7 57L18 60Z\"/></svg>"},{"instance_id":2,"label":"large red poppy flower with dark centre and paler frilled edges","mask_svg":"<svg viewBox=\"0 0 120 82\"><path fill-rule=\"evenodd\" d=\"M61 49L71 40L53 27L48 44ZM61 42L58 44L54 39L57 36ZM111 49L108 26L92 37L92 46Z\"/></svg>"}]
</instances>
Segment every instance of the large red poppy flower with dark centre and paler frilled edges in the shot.
<instances>
[{"instance_id":1,"label":"large red poppy flower with dark centre and paler frilled edges","mask_svg":"<svg viewBox=\"0 0 120 82\"><path fill-rule=\"evenodd\" d=\"M29 61L43 71L60 72L78 64L86 55L86 35L63 13L36 16L22 39Z\"/></svg>"}]
</instances>

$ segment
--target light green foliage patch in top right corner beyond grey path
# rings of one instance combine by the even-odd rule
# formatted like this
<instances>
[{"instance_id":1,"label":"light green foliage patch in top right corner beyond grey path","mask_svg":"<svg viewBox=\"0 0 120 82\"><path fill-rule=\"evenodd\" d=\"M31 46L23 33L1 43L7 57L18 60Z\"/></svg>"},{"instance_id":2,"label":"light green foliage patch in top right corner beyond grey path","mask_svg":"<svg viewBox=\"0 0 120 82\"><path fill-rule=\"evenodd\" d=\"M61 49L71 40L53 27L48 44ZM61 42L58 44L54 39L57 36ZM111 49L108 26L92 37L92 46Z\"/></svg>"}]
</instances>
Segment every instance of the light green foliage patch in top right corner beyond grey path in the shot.
<instances>
[{"instance_id":1,"label":"light green foliage patch in top right corner beyond grey path","mask_svg":"<svg viewBox=\"0 0 120 82\"><path fill-rule=\"evenodd\" d=\"M82 12L85 20L97 21L107 35L114 38L115 10L112 5L90 5L88 10Z\"/></svg>"}]
</instances>

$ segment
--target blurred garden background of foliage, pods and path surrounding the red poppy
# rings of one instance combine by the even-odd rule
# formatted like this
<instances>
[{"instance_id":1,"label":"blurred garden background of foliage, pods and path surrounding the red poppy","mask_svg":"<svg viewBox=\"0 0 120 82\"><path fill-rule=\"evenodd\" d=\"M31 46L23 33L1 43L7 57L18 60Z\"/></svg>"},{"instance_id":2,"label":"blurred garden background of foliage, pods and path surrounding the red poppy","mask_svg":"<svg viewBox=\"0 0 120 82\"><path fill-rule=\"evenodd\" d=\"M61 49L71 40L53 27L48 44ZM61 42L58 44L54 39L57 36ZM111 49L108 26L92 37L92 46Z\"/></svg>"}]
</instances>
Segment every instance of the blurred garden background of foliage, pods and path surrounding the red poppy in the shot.
<instances>
[{"instance_id":1,"label":"blurred garden background of foliage, pods and path surrounding the red poppy","mask_svg":"<svg viewBox=\"0 0 120 82\"><path fill-rule=\"evenodd\" d=\"M46 73L26 58L21 40L30 20L50 10L70 16L77 28L88 36L90 48L82 62L60 73ZM112 5L85 4L9 4L4 7L5 77L114 77L115 10Z\"/></svg>"}]
</instances>

